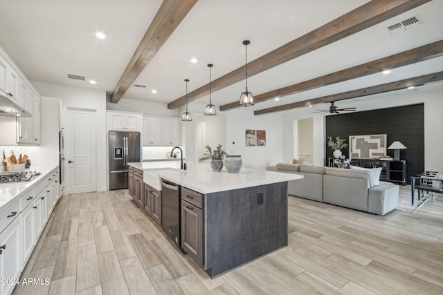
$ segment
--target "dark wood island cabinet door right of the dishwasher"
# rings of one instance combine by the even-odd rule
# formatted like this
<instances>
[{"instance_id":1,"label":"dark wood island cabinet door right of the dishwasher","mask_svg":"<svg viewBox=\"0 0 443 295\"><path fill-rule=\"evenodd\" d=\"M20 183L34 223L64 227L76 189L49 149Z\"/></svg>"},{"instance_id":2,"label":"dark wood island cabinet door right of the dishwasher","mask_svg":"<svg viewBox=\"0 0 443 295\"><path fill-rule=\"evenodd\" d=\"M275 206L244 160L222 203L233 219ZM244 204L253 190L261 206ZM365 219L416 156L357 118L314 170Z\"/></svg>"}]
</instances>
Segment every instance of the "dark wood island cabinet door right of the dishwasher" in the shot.
<instances>
[{"instance_id":1,"label":"dark wood island cabinet door right of the dishwasher","mask_svg":"<svg viewBox=\"0 0 443 295\"><path fill-rule=\"evenodd\" d=\"M181 201L181 247L199 265L203 265L203 211Z\"/></svg>"}]
</instances>

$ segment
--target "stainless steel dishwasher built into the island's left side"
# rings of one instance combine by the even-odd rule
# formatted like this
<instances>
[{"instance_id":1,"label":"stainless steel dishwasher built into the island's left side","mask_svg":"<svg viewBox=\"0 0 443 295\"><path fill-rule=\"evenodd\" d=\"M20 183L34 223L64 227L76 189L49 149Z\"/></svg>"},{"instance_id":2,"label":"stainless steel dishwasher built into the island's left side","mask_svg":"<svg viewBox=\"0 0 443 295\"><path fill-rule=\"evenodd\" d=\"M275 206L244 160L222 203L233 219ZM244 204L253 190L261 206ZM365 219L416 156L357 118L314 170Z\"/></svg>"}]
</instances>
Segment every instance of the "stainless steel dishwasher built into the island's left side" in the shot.
<instances>
[{"instance_id":1,"label":"stainless steel dishwasher built into the island's left side","mask_svg":"<svg viewBox=\"0 0 443 295\"><path fill-rule=\"evenodd\" d=\"M180 186L161 180L161 227L172 241L181 248Z\"/></svg>"}]
</instances>

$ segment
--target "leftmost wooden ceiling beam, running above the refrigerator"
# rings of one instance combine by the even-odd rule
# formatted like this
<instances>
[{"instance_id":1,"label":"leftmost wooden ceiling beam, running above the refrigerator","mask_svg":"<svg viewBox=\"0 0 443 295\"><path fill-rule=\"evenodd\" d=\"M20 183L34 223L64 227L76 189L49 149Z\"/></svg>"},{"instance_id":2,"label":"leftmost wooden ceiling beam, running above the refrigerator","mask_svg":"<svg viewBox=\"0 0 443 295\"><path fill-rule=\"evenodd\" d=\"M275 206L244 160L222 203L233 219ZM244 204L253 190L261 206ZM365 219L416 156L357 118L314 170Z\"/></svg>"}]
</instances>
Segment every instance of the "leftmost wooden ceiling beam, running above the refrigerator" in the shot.
<instances>
[{"instance_id":1,"label":"leftmost wooden ceiling beam, running above the refrigerator","mask_svg":"<svg viewBox=\"0 0 443 295\"><path fill-rule=\"evenodd\" d=\"M122 77L118 80L116 88L111 94L110 102L117 103L123 97L152 57L188 15L195 3L197 0L163 0Z\"/></svg>"}]
</instances>

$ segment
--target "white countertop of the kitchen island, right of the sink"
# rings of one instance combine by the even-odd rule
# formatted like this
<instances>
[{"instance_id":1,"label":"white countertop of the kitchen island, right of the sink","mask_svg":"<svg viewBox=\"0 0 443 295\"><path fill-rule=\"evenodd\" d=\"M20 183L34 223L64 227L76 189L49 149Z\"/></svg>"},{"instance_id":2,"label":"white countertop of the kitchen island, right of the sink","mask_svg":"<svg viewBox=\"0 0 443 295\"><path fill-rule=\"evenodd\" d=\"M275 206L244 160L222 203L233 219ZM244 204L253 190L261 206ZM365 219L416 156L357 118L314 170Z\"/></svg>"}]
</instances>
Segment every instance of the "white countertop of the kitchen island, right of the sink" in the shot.
<instances>
[{"instance_id":1,"label":"white countertop of the kitchen island, right of the sink","mask_svg":"<svg viewBox=\"0 0 443 295\"><path fill-rule=\"evenodd\" d=\"M226 169L213 171L210 164L188 165L188 170L162 169L156 171L159 178L174 182L199 193L215 193L264 184L302 179L302 175L275 171L242 168L239 173L228 173Z\"/></svg>"}]
</instances>

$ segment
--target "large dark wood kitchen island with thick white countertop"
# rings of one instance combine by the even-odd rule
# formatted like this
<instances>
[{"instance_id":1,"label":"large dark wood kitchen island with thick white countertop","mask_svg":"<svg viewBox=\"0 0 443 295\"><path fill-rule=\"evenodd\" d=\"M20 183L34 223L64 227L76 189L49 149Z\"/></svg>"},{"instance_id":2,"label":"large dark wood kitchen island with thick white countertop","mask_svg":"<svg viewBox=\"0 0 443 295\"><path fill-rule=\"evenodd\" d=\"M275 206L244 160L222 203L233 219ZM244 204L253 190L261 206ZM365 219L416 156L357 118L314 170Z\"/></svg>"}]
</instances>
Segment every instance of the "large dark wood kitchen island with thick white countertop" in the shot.
<instances>
[{"instance_id":1,"label":"large dark wood kitchen island with thick white countertop","mask_svg":"<svg viewBox=\"0 0 443 295\"><path fill-rule=\"evenodd\" d=\"M213 172L209 164L145 173L179 186L176 244L211 278L287 245L287 182L302 175L244 168ZM164 228L168 217L162 214Z\"/></svg>"}]
</instances>

